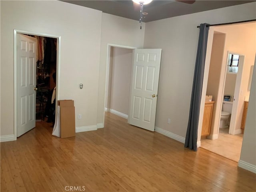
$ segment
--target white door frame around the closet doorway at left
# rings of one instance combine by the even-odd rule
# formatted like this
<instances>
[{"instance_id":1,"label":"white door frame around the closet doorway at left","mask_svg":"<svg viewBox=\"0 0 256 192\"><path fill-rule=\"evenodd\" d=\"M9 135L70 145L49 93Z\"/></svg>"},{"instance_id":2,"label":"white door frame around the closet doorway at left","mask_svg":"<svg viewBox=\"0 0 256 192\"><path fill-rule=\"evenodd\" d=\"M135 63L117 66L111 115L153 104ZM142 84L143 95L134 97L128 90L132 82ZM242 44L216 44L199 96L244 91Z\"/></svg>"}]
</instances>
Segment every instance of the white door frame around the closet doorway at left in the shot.
<instances>
[{"instance_id":1,"label":"white door frame around the closet doorway at left","mask_svg":"<svg viewBox=\"0 0 256 192\"><path fill-rule=\"evenodd\" d=\"M14 140L17 140L17 34L27 34L27 35L36 35L36 36L44 36L50 38L57 39L57 60L56 60L56 86L58 87L56 92L56 100L59 100L60 97L60 39L61 36L17 30L14 29ZM56 102L57 108L57 102ZM55 114L56 115L56 114Z\"/></svg>"}]
</instances>

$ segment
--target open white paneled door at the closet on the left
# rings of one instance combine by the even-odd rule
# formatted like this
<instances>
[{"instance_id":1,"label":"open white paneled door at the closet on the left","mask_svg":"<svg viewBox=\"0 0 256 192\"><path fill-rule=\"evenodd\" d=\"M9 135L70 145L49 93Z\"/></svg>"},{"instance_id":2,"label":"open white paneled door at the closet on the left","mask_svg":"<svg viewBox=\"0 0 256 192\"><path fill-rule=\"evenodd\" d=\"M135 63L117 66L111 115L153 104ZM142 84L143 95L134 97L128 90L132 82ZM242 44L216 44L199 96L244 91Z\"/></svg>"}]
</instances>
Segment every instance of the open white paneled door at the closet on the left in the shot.
<instances>
[{"instance_id":1,"label":"open white paneled door at the closet on the left","mask_svg":"<svg viewBox=\"0 0 256 192\"><path fill-rule=\"evenodd\" d=\"M17 137L36 126L36 38L17 34Z\"/></svg>"}]
</instances>

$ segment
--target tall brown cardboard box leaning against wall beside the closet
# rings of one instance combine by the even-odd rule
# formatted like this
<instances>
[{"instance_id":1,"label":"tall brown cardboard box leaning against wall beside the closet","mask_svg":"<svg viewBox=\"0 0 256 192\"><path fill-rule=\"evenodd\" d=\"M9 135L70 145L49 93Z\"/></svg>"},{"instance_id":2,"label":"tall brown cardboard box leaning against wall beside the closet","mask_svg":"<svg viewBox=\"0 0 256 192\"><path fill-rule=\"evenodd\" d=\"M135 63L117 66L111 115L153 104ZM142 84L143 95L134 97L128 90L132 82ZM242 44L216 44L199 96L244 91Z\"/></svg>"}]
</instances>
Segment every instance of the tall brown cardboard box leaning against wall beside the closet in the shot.
<instances>
[{"instance_id":1,"label":"tall brown cardboard box leaning against wall beside the closet","mask_svg":"<svg viewBox=\"0 0 256 192\"><path fill-rule=\"evenodd\" d=\"M58 100L60 106L60 138L76 134L74 100Z\"/></svg>"}]
</instances>

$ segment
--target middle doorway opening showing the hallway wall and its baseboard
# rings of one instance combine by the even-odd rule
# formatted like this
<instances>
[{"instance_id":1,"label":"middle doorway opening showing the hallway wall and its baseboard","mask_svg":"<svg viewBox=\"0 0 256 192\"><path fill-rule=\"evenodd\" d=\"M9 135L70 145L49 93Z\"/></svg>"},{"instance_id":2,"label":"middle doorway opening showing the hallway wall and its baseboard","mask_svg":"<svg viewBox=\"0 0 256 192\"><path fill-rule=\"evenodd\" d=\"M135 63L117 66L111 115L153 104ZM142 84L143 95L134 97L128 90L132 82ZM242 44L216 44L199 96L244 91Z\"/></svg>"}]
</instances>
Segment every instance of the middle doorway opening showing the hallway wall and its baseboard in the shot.
<instances>
[{"instance_id":1,"label":"middle doorway opening showing the hallway wall and its baseboard","mask_svg":"<svg viewBox=\"0 0 256 192\"><path fill-rule=\"evenodd\" d=\"M108 44L104 111L128 119L133 47Z\"/></svg>"}]
</instances>

